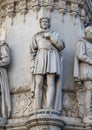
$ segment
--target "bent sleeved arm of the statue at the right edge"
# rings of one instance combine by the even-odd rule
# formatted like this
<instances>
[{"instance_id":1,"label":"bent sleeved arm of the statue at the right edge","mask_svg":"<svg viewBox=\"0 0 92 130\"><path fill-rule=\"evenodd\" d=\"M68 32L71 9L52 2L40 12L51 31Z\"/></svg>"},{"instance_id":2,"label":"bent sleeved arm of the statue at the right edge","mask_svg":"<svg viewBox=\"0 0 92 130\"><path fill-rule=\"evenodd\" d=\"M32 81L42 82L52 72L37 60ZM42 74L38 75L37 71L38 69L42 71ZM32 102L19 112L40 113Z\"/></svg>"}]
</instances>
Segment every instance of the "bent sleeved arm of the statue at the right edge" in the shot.
<instances>
[{"instance_id":1,"label":"bent sleeved arm of the statue at the right edge","mask_svg":"<svg viewBox=\"0 0 92 130\"><path fill-rule=\"evenodd\" d=\"M92 59L90 57L87 56L86 54L86 46L85 46L85 42L84 41L80 41L78 43L78 46L77 46L77 57L80 61L82 62L86 62L88 64L91 64L92 65Z\"/></svg>"}]
</instances>

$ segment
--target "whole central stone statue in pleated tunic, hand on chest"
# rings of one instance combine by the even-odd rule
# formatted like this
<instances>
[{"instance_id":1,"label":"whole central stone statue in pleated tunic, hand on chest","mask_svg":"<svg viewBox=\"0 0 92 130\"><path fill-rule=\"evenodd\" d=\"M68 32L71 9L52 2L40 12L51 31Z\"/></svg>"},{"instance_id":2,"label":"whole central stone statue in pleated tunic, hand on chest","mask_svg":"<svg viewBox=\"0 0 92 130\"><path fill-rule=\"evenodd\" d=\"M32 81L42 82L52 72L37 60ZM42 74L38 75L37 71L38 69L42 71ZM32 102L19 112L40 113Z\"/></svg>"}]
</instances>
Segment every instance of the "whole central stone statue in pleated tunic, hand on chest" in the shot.
<instances>
[{"instance_id":1,"label":"whole central stone statue in pleated tunic, hand on chest","mask_svg":"<svg viewBox=\"0 0 92 130\"><path fill-rule=\"evenodd\" d=\"M32 86L35 93L35 110L55 109L61 111L63 56L65 48L63 39L59 34L50 30L50 19L40 19L41 32L33 36L31 42L31 72L35 78ZM43 107L43 87L45 89L46 104Z\"/></svg>"}]
</instances>

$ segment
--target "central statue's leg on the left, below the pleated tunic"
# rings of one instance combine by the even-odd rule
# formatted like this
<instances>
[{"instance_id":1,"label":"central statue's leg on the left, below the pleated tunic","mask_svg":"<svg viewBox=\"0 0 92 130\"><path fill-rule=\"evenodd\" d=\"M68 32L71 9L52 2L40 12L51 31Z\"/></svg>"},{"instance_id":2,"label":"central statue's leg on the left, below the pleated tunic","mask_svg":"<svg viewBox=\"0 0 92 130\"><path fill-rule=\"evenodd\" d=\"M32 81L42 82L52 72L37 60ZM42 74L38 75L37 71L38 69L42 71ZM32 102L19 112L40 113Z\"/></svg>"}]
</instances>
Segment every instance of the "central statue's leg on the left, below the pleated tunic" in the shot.
<instances>
[{"instance_id":1,"label":"central statue's leg on the left, below the pleated tunic","mask_svg":"<svg viewBox=\"0 0 92 130\"><path fill-rule=\"evenodd\" d=\"M42 108L42 85L43 75L36 75L35 109Z\"/></svg>"}]
</instances>

